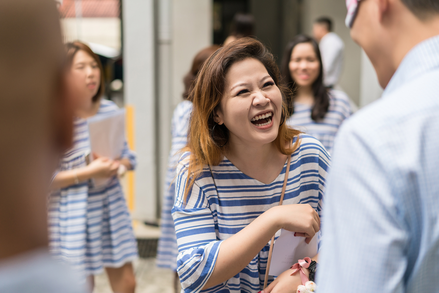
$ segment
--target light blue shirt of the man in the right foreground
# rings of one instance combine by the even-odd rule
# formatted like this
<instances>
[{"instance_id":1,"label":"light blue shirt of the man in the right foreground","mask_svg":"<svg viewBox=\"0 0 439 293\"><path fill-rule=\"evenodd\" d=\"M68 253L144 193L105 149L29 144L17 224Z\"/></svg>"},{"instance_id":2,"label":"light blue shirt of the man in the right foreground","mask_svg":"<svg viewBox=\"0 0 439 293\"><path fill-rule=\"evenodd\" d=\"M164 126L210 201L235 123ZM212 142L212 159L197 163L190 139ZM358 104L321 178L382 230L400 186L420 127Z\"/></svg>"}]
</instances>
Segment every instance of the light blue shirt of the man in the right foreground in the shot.
<instances>
[{"instance_id":1,"label":"light blue shirt of the man in the right foreground","mask_svg":"<svg viewBox=\"0 0 439 293\"><path fill-rule=\"evenodd\" d=\"M343 124L332 157L319 291L439 292L439 36Z\"/></svg>"}]
</instances>

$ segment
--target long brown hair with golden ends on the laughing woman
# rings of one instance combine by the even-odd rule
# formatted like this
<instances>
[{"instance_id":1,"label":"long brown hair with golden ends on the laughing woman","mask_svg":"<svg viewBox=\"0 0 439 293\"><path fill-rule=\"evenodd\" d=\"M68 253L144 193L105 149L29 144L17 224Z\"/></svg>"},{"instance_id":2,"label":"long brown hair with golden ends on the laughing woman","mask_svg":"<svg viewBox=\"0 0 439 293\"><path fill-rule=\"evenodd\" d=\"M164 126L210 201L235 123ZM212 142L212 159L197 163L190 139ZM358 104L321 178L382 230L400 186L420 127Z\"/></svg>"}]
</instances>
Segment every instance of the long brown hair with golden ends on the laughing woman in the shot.
<instances>
[{"instance_id":1,"label":"long brown hair with golden ends on the laughing woman","mask_svg":"<svg viewBox=\"0 0 439 293\"><path fill-rule=\"evenodd\" d=\"M211 132L215 125L213 115L219 107L221 98L223 98L228 69L235 62L245 58L259 60L265 66L281 93L285 90L285 87L279 84L281 75L273 55L258 40L249 37L235 40L216 50L205 61L195 79L194 89L189 94L189 99L193 102L193 111L189 124L187 146L183 151L191 152L191 156L184 191L184 202L186 202L187 195L195 180L202 173L203 166L219 165L227 151L227 145L223 145L219 141L227 141L229 131L227 127L221 126L223 131L220 131L215 138L212 137ZM282 104L283 117L281 120L288 115L284 110L284 102ZM291 129L285 123L281 123L274 141L279 152L284 155L291 155L297 149L299 139L291 147L289 145L286 147L285 144L298 134L300 134L299 130Z\"/></svg>"}]
</instances>

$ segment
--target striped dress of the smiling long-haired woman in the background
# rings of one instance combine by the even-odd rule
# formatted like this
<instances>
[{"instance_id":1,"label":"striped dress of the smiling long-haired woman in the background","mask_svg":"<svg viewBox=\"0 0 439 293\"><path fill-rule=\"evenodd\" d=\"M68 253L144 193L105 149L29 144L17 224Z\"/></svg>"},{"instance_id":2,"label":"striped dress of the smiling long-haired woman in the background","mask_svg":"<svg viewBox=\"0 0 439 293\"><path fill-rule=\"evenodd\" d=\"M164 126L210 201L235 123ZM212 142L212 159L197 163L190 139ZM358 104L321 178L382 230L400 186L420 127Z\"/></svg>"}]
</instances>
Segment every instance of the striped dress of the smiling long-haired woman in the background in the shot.
<instances>
[{"instance_id":1,"label":"striped dress of the smiling long-haired woman in the background","mask_svg":"<svg viewBox=\"0 0 439 293\"><path fill-rule=\"evenodd\" d=\"M328 94L329 108L322 120L311 119L311 105L294 103L294 114L287 120L287 125L317 138L331 152L338 127L352 115L353 109L343 91L329 90Z\"/></svg>"}]
</instances>

